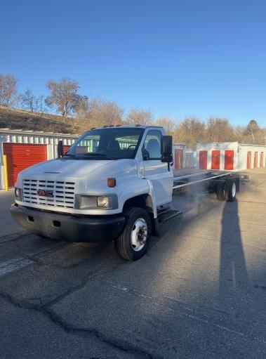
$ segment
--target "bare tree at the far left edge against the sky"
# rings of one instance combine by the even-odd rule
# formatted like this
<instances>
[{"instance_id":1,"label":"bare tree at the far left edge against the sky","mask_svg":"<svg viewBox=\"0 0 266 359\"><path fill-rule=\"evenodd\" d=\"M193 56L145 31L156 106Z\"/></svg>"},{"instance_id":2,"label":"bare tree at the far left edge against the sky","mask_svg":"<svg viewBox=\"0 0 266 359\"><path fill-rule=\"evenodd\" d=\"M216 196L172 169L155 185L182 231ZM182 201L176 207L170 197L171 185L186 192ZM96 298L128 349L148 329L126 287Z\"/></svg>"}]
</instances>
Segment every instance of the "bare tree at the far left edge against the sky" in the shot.
<instances>
[{"instance_id":1,"label":"bare tree at the far left edge against the sky","mask_svg":"<svg viewBox=\"0 0 266 359\"><path fill-rule=\"evenodd\" d=\"M17 82L13 74L0 74L0 105L11 106L18 98Z\"/></svg>"}]
</instances>

